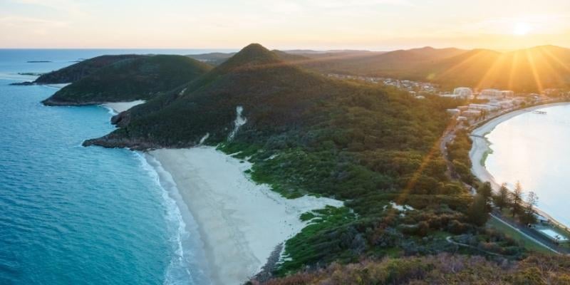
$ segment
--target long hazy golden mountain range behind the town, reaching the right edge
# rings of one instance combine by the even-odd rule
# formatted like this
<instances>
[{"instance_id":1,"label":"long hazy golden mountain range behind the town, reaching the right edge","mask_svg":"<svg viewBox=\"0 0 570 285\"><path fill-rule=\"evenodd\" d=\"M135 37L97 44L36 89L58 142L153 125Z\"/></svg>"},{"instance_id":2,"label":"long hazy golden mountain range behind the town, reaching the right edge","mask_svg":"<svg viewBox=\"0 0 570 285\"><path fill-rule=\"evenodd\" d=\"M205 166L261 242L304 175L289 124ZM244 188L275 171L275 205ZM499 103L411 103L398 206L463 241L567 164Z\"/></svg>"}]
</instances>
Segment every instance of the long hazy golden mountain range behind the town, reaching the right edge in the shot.
<instances>
[{"instance_id":1,"label":"long hazy golden mountain range behind the town, reaching the right edge","mask_svg":"<svg viewBox=\"0 0 570 285\"><path fill-rule=\"evenodd\" d=\"M444 88L471 86L538 92L570 86L570 50L557 46L506 52L425 47L381 54L328 54L299 64L321 73L427 81Z\"/></svg>"}]
</instances>

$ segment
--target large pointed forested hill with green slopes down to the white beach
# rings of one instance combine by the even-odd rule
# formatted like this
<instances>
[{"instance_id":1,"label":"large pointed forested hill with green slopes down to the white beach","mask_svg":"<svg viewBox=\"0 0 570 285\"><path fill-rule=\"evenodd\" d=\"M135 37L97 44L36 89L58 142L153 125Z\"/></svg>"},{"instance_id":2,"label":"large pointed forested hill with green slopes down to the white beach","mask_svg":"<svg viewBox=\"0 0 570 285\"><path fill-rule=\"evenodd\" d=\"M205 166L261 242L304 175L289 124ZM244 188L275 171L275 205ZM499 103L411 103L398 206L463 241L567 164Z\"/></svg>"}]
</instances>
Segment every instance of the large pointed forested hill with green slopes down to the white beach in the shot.
<instances>
[{"instance_id":1,"label":"large pointed forested hill with green slopes down to the white beach","mask_svg":"<svg viewBox=\"0 0 570 285\"><path fill-rule=\"evenodd\" d=\"M467 218L472 198L448 180L437 152L450 120L445 109L454 105L331 80L252 44L121 113L121 128L84 145L145 150L202 141L247 157L252 179L282 195L345 200L348 208L309 214L320 222L287 241L284 274L334 260L453 251L447 235L484 230ZM239 115L245 123L235 128ZM415 210L400 215L390 202Z\"/></svg>"}]
</instances>

